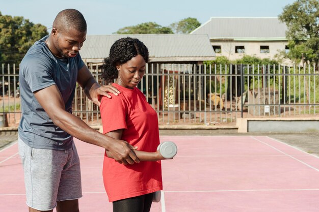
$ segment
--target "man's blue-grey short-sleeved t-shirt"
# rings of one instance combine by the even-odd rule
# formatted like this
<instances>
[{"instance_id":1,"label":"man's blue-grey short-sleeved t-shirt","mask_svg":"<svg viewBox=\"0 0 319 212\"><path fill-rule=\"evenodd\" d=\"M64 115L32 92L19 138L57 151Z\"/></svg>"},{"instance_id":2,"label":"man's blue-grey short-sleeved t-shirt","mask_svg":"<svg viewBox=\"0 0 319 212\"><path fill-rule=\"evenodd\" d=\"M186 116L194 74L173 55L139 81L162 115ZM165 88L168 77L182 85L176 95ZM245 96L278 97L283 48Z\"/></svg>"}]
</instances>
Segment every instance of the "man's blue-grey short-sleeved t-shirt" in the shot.
<instances>
[{"instance_id":1,"label":"man's blue-grey short-sleeved t-shirt","mask_svg":"<svg viewBox=\"0 0 319 212\"><path fill-rule=\"evenodd\" d=\"M35 42L20 64L19 86L22 117L19 137L33 148L68 149L73 137L57 127L41 107L34 92L56 84L62 95L65 110L72 113L77 73L84 62L79 54L59 59L47 48L44 41ZM50 97L47 98L50 101Z\"/></svg>"}]
</instances>

